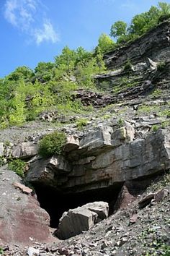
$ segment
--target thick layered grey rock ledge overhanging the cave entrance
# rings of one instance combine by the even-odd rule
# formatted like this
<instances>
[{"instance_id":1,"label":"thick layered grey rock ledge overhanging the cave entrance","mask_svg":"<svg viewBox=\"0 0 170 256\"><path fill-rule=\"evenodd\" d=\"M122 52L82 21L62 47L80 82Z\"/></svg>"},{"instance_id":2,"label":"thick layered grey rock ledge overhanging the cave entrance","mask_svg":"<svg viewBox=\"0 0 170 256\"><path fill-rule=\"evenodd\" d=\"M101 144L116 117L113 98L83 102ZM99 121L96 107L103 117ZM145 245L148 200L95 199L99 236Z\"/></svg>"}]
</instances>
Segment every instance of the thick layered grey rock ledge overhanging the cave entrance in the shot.
<instances>
[{"instance_id":1,"label":"thick layered grey rock ledge overhanging the cave entrance","mask_svg":"<svg viewBox=\"0 0 170 256\"><path fill-rule=\"evenodd\" d=\"M30 164L28 182L82 192L151 176L170 167L169 129L133 137L133 126L105 127L84 135L80 148Z\"/></svg>"}]
</instances>

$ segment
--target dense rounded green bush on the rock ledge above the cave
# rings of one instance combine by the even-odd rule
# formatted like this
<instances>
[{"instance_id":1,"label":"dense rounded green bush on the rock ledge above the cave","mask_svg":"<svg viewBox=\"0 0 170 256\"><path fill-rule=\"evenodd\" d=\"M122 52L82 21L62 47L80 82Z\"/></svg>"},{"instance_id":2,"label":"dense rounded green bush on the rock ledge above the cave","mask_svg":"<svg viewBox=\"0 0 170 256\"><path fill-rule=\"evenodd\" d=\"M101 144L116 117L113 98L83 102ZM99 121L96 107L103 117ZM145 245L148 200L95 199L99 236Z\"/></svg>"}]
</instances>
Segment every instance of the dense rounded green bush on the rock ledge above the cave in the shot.
<instances>
[{"instance_id":1,"label":"dense rounded green bush on the rock ledge above the cave","mask_svg":"<svg viewBox=\"0 0 170 256\"><path fill-rule=\"evenodd\" d=\"M55 154L61 154L65 144L65 133L55 131L50 133L49 135L45 135L45 137L40 140L38 153L44 158Z\"/></svg>"}]
</instances>

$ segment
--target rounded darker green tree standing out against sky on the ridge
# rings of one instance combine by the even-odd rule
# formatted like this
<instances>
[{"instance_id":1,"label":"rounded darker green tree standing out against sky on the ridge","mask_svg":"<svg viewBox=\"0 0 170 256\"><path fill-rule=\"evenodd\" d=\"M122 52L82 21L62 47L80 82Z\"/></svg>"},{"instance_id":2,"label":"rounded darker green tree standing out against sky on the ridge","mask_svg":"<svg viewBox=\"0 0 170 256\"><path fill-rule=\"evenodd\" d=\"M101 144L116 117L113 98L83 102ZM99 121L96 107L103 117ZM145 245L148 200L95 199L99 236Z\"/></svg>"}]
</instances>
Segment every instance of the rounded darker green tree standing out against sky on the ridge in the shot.
<instances>
[{"instance_id":1,"label":"rounded darker green tree standing out against sky on the ridge","mask_svg":"<svg viewBox=\"0 0 170 256\"><path fill-rule=\"evenodd\" d=\"M112 25L109 35L112 36L113 38L117 38L121 35L126 35L127 27L128 25L126 22L123 22L122 20L118 20Z\"/></svg>"}]
</instances>

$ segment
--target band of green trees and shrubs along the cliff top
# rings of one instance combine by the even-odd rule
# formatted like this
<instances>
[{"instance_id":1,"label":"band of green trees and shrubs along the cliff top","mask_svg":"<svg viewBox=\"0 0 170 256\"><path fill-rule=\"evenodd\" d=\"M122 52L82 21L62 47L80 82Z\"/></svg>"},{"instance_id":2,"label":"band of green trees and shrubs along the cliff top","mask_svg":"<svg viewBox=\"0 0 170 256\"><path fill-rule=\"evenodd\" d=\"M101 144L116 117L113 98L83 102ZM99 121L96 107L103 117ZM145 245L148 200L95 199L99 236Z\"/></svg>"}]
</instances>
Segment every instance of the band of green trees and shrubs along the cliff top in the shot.
<instances>
[{"instance_id":1,"label":"band of green trees and shrubs along the cliff top","mask_svg":"<svg viewBox=\"0 0 170 256\"><path fill-rule=\"evenodd\" d=\"M146 33L169 14L170 4L159 2L158 7L133 17L130 27L125 22L115 22L110 35L117 38L117 43L102 33L94 51L66 46L53 63L40 62L35 70L18 67L0 79L0 128L35 120L45 110L69 114L83 109L73 93L78 88L97 90L93 74L105 71L103 54Z\"/></svg>"}]
</instances>

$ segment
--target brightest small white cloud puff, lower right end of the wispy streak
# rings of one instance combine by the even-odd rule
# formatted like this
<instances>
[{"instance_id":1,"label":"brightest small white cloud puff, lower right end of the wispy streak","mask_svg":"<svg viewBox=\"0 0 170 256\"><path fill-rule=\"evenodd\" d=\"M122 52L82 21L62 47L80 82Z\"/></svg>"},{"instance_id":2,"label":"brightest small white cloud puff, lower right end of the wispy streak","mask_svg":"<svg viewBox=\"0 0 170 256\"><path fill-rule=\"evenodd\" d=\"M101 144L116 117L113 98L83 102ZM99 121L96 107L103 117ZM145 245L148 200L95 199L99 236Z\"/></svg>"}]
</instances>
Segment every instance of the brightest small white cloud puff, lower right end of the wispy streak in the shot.
<instances>
[{"instance_id":1,"label":"brightest small white cloud puff, lower right end of the wispy streak","mask_svg":"<svg viewBox=\"0 0 170 256\"><path fill-rule=\"evenodd\" d=\"M51 41L52 43L56 43L59 40L59 36L55 33L53 25L49 20L45 20L42 29L35 30L35 40L37 45L42 43L44 40Z\"/></svg>"}]
</instances>

